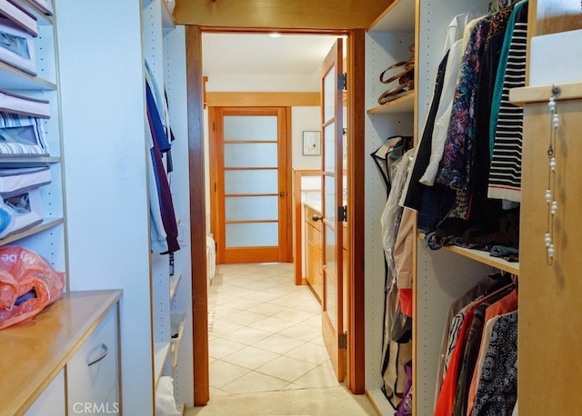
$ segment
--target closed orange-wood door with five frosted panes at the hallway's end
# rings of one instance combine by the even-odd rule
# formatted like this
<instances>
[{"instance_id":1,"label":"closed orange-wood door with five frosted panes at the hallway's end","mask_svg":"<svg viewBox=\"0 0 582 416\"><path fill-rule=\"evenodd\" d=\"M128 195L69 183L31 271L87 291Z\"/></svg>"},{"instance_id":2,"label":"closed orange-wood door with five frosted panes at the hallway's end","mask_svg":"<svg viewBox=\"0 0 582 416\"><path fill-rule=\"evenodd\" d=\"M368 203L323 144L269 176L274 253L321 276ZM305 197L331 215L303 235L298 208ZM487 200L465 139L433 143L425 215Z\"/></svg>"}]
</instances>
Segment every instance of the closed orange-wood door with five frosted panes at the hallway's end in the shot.
<instances>
[{"instance_id":1,"label":"closed orange-wood door with five frosted panes at the hallway's end","mask_svg":"<svg viewBox=\"0 0 582 416\"><path fill-rule=\"evenodd\" d=\"M287 107L210 107L216 262L292 262Z\"/></svg>"}]
</instances>

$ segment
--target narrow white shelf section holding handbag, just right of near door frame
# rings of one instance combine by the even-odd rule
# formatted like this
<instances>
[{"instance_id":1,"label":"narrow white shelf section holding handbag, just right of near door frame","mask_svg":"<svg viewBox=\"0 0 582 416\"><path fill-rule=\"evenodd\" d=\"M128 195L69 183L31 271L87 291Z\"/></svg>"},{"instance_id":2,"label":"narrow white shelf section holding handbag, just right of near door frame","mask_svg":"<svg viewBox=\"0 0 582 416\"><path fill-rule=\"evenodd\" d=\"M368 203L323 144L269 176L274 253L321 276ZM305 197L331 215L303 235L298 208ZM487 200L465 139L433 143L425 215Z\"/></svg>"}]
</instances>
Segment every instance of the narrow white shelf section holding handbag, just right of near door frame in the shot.
<instances>
[{"instance_id":1,"label":"narrow white shelf section holding handbag, just right of near door frame","mask_svg":"<svg viewBox=\"0 0 582 416\"><path fill-rule=\"evenodd\" d=\"M378 105L377 99L393 85L379 75L391 64L406 61L415 43L415 5L396 1L379 16L366 35L366 152L372 154L393 135L414 133L415 93ZM398 71L396 69L396 71ZM380 390L382 334L384 328L385 271L380 236L380 216L386 204L386 187L372 158L366 160L366 392L381 414L393 411Z\"/></svg>"}]
</instances>

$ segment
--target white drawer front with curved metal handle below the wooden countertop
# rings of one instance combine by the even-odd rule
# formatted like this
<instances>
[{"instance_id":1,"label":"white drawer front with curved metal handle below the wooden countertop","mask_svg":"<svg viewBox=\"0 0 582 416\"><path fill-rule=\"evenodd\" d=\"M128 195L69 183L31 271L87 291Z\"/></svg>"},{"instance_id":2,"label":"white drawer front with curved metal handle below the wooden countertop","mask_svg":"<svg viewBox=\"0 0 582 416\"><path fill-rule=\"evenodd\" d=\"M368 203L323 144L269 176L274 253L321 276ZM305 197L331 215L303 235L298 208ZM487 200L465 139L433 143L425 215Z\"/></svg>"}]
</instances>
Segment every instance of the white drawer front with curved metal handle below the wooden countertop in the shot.
<instances>
[{"instance_id":1,"label":"white drawer front with curved metal handle below the wooden countertop","mask_svg":"<svg viewBox=\"0 0 582 416\"><path fill-rule=\"evenodd\" d=\"M86 409L115 414L118 402L117 371L117 317L114 307L66 364L69 414L86 412ZM115 393L111 394L114 387ZM109 403L109 400L112 402Z\"/></svg>"}]
</instances>

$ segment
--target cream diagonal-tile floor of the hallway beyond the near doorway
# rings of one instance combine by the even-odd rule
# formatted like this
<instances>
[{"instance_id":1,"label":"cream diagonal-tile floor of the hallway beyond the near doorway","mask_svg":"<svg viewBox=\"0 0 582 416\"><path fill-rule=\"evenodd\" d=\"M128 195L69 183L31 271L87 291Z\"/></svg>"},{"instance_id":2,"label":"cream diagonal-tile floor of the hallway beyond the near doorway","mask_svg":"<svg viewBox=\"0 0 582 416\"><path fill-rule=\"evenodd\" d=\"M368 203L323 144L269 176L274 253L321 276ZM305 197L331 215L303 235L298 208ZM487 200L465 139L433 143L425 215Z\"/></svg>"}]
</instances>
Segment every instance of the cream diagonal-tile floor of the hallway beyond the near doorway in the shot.
<instances>
[{"instance_id":1,"label":"cream diagonal-tile floor of the hallway beyond the near doorway","mask_svg":"<svg viewBox=\"0 0 582 416\"><path fill-rule=\"evenodd\" d=\"M339 386L321 306L292 263L221 264L208 290L210 395Z\"/></svg>"}]
</instances>

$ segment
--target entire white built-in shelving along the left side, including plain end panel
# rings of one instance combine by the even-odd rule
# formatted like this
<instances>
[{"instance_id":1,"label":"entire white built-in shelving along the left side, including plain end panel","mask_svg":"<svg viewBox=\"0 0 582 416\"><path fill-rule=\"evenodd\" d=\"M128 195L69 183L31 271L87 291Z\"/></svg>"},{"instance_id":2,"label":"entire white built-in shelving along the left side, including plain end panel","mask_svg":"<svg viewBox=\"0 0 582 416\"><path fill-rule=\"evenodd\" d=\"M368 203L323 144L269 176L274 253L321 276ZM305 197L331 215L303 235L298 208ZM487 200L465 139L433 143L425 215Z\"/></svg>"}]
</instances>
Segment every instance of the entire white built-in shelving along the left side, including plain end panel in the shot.
<instances>
[{"instance_id":1,"label":"entire white built-in shelving along the left side, including plain end panel","mask_svg":"<svg viewBox=\"0 0 582 416\"><path fill-rule=\"evenodd\" d=\"M50 154L3 155L0 167L48 165L52 180L41 187L44 221L0 245L41 254L66 273L67 291L123 291L125 414L154 414L161 375L173 375L181 409L192 406L185 28L163 0L55 0L53 17L29 0L14 3L38 19L38 74L0 63L0 88L49 100L42 125ZM145 59L157 84L166 84L176 136L171 183L182 250L173 275L169 256L150 249ZM180 317L174 342L173 316Z\"/></svg>"}]
</instances>

